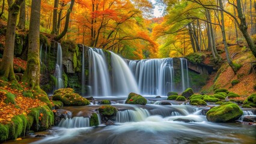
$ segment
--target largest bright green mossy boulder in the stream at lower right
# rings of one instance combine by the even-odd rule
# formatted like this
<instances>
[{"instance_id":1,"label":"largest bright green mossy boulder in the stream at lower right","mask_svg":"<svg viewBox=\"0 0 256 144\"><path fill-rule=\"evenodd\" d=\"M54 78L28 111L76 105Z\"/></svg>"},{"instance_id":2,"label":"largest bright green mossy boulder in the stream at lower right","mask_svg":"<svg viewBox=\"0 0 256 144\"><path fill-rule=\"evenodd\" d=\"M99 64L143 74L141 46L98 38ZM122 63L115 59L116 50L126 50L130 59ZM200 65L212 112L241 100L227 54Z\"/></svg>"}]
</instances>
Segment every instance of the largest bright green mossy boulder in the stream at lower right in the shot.
<instances>
[{"instance_id":1,"label":"largest bright green mossy boulder in the stream at lower right","mask_svg":"<svg viewBox=\"0 0 256 144\"><path fill-rule=\"evenodd\" d=\"M242 115L243 111L237 104L224 103L221 106L210 109L206 113L206 118L212 122L233 122Z\"/></svg>"}]
</instances>

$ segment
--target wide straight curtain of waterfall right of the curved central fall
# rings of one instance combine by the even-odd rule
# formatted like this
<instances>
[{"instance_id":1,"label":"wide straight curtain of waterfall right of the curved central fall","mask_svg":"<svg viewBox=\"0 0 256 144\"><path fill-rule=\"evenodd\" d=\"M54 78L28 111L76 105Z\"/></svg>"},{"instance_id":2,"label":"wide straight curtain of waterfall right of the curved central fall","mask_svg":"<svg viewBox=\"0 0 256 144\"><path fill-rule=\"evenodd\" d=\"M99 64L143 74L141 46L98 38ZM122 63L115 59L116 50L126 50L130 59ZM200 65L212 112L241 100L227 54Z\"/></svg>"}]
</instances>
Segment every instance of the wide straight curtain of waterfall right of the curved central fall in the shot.
<instances>
[{"instance_id":1,"label":"wide straight curtain of waterfall right of the curved central fall","mask_svg":"<svg viewBox=\"0 0 256 144\"><path fill-rule=\"evenodd\" d=\"M144 95L166 95L174 91L172 58L130 61L139 90Z\"/></svg>"}]
</instances>

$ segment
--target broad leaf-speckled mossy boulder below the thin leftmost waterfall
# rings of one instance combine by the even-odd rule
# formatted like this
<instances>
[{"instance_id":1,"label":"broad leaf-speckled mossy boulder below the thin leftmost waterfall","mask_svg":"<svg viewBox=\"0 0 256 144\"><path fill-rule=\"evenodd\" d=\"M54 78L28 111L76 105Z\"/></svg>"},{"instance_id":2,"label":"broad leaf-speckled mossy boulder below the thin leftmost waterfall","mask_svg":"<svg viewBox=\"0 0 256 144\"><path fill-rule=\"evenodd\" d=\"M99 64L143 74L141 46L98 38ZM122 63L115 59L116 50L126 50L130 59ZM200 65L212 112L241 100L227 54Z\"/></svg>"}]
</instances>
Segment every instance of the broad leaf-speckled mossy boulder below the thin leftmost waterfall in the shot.
<instances>
[{"instance_id":1,"label":"broad leaf-speckled mossy boulder below the thin leftmost waterfall","mask_svg":"<svg viewBox=\"0 0 256 144\"><path fill-rule=\"evenodd\" d=\"M54 92L52 100L61 101L64 106L85 106L90 101L74 92L72 88L62 88Z\"/></svg>"}]
</instances>

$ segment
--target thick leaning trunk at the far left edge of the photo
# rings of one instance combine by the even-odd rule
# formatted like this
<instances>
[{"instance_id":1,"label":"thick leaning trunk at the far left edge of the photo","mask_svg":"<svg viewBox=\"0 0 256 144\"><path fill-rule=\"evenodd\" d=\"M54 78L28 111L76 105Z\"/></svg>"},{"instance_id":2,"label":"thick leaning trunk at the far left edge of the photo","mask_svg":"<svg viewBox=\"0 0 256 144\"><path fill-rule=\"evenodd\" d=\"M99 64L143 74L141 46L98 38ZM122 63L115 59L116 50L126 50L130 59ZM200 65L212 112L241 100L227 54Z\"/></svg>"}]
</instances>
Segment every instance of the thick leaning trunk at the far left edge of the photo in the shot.
<instances>
[{"instance_id":1,"label":"thick leaning trunk at the far left edge of the photo","mask_svg":"<svg viewBox=\"0 0 256 144\"><path fill-rule=\"evenodd\" d=\"M2 62L0 64L0 77L4 77L8 80L16 80L13 71L13 53L14 53L14 42L15 42L15 31L17 16L20 10L20 4L23 0L11 1L8 0L8 20L7 29L5 35L5 46L4 54L2 56Z\"/></svg>"}]
</instances>

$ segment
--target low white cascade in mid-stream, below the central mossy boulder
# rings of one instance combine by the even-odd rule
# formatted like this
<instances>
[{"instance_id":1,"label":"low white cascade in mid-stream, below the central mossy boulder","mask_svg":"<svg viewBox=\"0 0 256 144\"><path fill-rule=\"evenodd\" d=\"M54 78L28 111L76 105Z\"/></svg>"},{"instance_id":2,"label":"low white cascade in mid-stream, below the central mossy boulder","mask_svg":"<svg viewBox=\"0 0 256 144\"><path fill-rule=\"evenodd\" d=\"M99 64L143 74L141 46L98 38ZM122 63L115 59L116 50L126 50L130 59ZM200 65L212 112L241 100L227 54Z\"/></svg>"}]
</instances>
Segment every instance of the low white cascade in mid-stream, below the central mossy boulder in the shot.
<instances>
[{"instance_id":1,"label":"low white cascade in mid-stream, below the central mossy boulder","mask_svg":"<svg viewBox=\"0 0 256 144\"><path fill-rule=\"evenodd\" d=\"M116 122L138 122L143 121L150 113L147 109L135 108L135 110L118 111L115 121Z\"/></svg>"}]
</instances>

